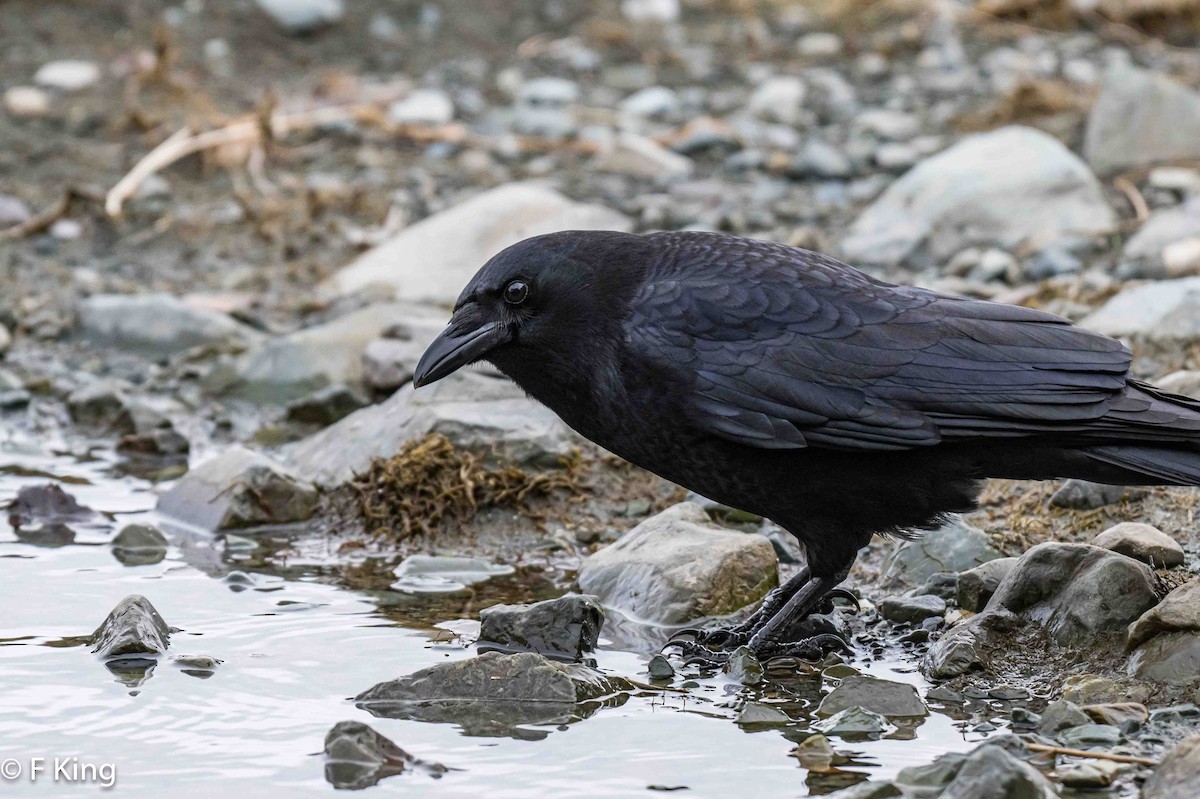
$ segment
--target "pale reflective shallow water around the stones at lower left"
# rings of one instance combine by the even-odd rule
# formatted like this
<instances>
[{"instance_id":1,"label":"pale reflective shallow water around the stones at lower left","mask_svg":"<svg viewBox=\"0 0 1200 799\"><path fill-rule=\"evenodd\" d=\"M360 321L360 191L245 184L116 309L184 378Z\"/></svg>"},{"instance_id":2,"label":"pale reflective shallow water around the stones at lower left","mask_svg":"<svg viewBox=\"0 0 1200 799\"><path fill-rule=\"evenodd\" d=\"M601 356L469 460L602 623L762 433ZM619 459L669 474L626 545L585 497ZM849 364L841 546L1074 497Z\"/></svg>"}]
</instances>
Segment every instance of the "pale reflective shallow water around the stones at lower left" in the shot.
<instances>
[{"instance_id":1,"label":"pale reflective shallow water around the stones at lower left","mask_svg":"<svg viewBox=\"0 0 1200 799\"><path fill-rule=\"evenodd\" d=\"M107 546L115 529L154 518L155 488L113 476L103 458L48 453L43 443L0 437L0 504L42 470L78 481L66 488L110 513L113 530L82 533L74 545L38 547L17 540L0 521L0 759L23 773L6 794L92 793L43 774L31 783L29 761L79 758L112 764L116 791L172 797L317 795L334 788L320 756L325 733L343 720L371 725L415 757L451 769L440 779L409 771L373 792L491 798L530 795L655 795L649 786L688 786L688 795L806 795L928 763L980 739L934 714L912 740L838 741L859 753L834 786L788 752L803 726L749 732L733 723L744 696L724 679L689 695L635 696L566 726L530 727L517 738L466 737L454 725L376 719L349 697L371 685L472 650L434 643L436 632L398 626L367 594L317 582L304 569L288 578L230 563L203 537L173 541L164 560L127 566ZM16 468L6 468L16 467ZM139 685L122 684L86 645L86 636L127 594L144 594L182 632L172 655L223 661L203 678L164 659ZM431 601L434 601L431 599ZM457 621L454 629L470 627ZM600 668L646 679L649 653L604 649ZM923 685L902 661L856 663L860 671ZM907 673L898 673L901 669ZM678 680L677 680L678 683ZM788 737L785 737L788 735ZM528 738L528 739L524 739ZM540 739L536 739L540 738ZM860 775L860 776L859 776Z\"/></svg>"}]
</instances>

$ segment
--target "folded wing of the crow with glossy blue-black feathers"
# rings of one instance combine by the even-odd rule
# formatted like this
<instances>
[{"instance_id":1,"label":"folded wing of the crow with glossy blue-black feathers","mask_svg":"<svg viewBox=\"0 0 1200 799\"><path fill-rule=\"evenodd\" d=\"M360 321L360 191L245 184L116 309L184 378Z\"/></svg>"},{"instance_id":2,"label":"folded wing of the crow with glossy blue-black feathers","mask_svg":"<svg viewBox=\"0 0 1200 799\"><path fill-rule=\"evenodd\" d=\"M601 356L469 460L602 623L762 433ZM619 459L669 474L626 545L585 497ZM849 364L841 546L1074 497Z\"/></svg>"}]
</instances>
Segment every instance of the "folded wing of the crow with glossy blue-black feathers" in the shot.
<instances>
[{"instance_id":1,"label":"folded wing of the crow with glossy blue-black feathers","mask_svg":"<svg viewBox=\"0 0 1200 799\"><path fill-rule=\"evenodd\" d=\"M1123 395L1129 352L1060 317L890 286L768 242L654 238L662 256L626 341L692 385L692 423L722 438L896 450L1092 431L1146 410Z\"/></svg>"}]
</instances>

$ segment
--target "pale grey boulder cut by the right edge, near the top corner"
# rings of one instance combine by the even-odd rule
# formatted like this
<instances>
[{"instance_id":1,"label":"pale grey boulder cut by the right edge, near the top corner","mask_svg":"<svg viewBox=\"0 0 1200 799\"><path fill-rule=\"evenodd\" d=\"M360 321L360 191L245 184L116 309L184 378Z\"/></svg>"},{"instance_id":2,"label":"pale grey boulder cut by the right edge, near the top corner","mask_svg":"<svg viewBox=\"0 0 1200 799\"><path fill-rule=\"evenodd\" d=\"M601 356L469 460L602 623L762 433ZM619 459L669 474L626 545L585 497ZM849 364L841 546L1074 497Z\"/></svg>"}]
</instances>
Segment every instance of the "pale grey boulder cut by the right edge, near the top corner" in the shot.
<instances>
[{"instance_id":1,"label":"pale grey boulder cut by the right edge, near the top corner","mask_svg":"<svg viewBox=\"0 0 1200 799\"><path fill-rule=\"evenodd\" d=\"M1084 134L1096 172L1200 157L1200 95L1128 64L1105 74Z\"/></svg>"}]
</instances>

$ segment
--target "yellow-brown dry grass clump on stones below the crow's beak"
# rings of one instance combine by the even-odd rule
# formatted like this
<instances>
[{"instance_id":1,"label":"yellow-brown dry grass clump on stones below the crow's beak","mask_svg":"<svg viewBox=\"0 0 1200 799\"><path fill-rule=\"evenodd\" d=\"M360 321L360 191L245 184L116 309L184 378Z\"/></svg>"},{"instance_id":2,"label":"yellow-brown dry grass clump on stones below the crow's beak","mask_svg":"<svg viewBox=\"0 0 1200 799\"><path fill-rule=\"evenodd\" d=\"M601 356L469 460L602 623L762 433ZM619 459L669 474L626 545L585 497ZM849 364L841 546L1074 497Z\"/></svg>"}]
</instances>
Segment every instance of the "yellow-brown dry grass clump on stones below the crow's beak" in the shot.
<instances>
[{"instance_id":1,"label":"yellow-brown dry grass clump on stones below the crow's beak","mask_svg":"<svg viewBox=\"0 0 1200 799\"><path fill-rule=\"evenodd\" d=\"M350 483L367 529L396 540L464 523L485 507L526 509L559 491L580 492L580 459L563 469L526 471L458 449L444 435L410 441L390 458L376 458Z\"/></svg>"}]
</instances>

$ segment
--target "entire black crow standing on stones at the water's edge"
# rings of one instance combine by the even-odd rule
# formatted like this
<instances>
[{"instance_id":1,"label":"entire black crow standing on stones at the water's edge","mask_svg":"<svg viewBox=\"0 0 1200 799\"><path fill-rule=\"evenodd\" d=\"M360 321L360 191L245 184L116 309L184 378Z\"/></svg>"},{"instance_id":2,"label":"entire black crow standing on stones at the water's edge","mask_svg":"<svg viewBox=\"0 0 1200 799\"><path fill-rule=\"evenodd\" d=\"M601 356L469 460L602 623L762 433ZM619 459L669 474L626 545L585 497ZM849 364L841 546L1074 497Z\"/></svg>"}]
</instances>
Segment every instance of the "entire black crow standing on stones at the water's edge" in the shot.
<instances>
[{"instance_id":1,"label":"entire black crow standing on stones at the water's edge","mask_svg":"<svg viewBox=\"0 0 1200 799\"><path fill-rule=\"evenodd\" d=\"M816 252L571 230L488 260L413 382L486 360L606 450L794 535L806 565L756 613L676 639L719 662L836 645L785 633L844 593L874 534L974 509L985 477L1200 483L1200 401L1133 379L1130 358L1061 317Z\"/></svg>"}]
</instances>

